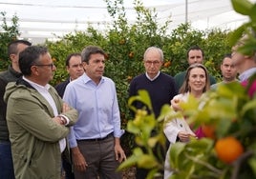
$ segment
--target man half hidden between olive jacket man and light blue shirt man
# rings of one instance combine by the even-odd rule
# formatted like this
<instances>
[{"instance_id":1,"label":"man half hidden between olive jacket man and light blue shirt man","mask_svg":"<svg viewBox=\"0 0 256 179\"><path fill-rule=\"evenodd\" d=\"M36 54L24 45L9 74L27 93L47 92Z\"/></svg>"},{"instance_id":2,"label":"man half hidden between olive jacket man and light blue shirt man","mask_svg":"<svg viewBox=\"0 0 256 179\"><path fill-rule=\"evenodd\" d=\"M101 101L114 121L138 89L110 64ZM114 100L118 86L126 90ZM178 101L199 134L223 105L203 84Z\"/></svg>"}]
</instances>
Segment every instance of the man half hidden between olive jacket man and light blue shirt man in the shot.
<instances>
[{"instance_id":1,"label":"man half hidden between olive jacket man and light blue shirt man","mask_svg":"<svg viewBox=\"0 0 256 179\"><path fill-rule=\"evenodd\" d=\"M71 53L67 56L66 70L69 73L69 77L64 82L55 86L55 89L60 97L63 97L67 85L84 73L81 53ZM68 158L69 156L62 155L62 165L63 169L65 170L65 178L75 179L71 161L69 161Z\"/></svg>"}]
</instances>

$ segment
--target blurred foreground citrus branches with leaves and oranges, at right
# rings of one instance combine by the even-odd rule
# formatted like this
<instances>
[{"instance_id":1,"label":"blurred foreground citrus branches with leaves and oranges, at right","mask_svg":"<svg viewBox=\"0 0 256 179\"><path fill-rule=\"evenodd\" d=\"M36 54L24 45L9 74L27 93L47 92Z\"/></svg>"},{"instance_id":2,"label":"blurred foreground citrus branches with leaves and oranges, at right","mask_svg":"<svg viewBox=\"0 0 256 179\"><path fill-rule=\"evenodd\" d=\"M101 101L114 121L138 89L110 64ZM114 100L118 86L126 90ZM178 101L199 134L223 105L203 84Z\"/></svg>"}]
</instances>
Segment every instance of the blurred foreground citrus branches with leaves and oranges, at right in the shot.
<instances>
[{"instance_id":1,"label":"blurred foreground citrus branches with leaves and oranges, at right","mask_svg":"<svg viewBox=\"0 0 256 179\"><path fill-rule=\"evenodd\" d=\"M256 51L256 4L249 1L232 0L232 6L237 12L247 15L249 22L235 30L230 36L230 45L246 34L249 38L239 50L245 54ZM150 109L150 99L146 91L140 91L139 96L129 99L131 105L134 100L142 101ZM170 153L171 169L174 171L171 179L240 179L256 178L256 74L245 84L234 82L219 86L218 89L208 91L203 97L203 108L199 109L202 101L192 96L187 103L181 104L182 111L174 112L163 107L161 116L168 116L166 122L178 116L187 116L187 122L195 126L203 126L205 138L193 140L189 143L172 145ZM134 109L133 106L130 106ZM156 160L156 153L152 148L162 141L162 131L157 137L148 133L158 123L154 115L145 110L134 109L137 115L129 121L127 129L136 135L139 146L146 148L142 151L134 149L131 157L121 164L119 169L137 165L151 169L148 178L154 178L162 164Z\"/></svg>"}]
</instances>

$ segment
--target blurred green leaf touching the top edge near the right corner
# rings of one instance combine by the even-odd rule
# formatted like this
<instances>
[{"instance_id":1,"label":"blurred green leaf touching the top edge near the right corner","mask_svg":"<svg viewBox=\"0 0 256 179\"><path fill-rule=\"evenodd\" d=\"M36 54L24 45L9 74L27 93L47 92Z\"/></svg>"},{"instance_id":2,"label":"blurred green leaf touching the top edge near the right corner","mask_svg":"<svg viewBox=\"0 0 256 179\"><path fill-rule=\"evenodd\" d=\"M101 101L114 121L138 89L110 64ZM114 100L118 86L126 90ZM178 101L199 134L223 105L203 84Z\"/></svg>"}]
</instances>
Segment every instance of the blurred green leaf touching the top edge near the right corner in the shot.
<instances>
[{"instance_id":1,"label":"blurred green leaf touching the top edge near the right corner","mask_svg":"<svg viewBox=\"0 0 256 179\"><path fill-rule=\"evenodd\" d=\"M231 0L233 9L243 15L249 15L253 4L248 0Z\"/></svg>"}]
</instances>

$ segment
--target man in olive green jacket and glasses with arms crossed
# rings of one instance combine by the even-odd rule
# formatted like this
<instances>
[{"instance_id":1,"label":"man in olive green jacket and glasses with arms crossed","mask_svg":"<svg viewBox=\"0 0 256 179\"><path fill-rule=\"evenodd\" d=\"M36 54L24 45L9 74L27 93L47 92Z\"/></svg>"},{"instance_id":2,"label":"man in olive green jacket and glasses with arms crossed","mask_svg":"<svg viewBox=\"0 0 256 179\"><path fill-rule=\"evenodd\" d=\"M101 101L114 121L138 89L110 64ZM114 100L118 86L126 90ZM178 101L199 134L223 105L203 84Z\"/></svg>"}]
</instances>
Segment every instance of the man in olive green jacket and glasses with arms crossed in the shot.
<instances>
[{"instance_id":1,"label":"man in olive green jacket and glasses with arms crossed","mask_svg":"<svg viewBox=\"0 0 256 179\"><path fill-rule=\"evenodd\" d=\"M61 153L77 111L48 83L56 70L46 48L31 46L19 56L23 74L8 84L7 122L16 179L61 178Z\"/></svg>"}]
</instances>

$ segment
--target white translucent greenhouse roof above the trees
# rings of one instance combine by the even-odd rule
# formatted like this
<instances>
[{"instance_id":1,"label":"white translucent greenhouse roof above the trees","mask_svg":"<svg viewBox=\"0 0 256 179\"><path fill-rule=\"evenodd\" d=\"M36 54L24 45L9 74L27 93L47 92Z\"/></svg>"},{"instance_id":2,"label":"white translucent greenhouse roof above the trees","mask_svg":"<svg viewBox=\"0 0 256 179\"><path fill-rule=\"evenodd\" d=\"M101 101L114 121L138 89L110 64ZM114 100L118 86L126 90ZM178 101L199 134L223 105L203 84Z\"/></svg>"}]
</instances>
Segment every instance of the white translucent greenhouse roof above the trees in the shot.
<instances>
[{"instance_id":1,"label":"white translucent greenhouse roof above the trees","mask_svg":"<svg viewBox=\"0 0 256 179\"><path fill-rule=\"evenodd\" d=\"M256 2L256 0L250 0ZM113 2L113 0L112 0ZM123 0L126 17L136 21L133 0ZM236 13L230 0L141 0L144 7L155 8L159 23L170 16L170 30L189 22L193 28L206 30L220 28L232 30L245 21L246 16ZM96 30L104 30L112 18L104 0L0 0L0 11L6 12L7 20L16 14L19 18L21 38L32 43L54 39L75 30L86 30L91 24ZM54 35L55 34L55 35Z\"/></svg>"}]
</instances>

